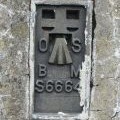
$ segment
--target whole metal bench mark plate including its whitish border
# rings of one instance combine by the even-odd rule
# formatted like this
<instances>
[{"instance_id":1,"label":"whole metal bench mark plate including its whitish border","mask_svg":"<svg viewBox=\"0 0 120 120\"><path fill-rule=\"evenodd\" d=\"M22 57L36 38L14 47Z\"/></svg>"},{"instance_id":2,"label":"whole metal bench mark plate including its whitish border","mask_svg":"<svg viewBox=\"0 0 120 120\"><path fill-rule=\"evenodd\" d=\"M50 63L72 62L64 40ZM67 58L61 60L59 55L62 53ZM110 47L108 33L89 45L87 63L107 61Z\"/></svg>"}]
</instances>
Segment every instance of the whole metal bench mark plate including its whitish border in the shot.
<instances>
[{"instance_id":1,"label":"whole metal bench mark plate including its whitish border","mask_svg":"<svg viewBox=\"0 0 120 120\"><path fill-rule=\"evenodd\" d=\"M88 119L92 5L31 1L30 119Z\"/></svg>"}]
</instances>

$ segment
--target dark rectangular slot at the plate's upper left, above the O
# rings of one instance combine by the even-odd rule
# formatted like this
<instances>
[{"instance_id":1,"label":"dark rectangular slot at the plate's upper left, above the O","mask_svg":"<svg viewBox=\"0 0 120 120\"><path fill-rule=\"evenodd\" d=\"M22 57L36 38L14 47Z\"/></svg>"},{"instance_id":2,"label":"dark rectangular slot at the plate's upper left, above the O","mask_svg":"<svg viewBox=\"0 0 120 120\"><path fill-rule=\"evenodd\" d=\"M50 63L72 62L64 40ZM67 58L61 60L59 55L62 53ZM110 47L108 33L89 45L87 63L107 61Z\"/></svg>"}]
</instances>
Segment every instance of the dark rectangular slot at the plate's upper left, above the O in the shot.
<instances>
[{"instance_id":1,"label":"dark rectangular slot at the plate's upper left, above the O","mask_svg":"<svg viewBox=\"0 0 120 120\"><path fill-rule=\"evenodd\" d=\"M42 10L42 18L44 18L44 19L55 19L54 10L49 10L49 9Z\"/></svg>"}]
</instances>

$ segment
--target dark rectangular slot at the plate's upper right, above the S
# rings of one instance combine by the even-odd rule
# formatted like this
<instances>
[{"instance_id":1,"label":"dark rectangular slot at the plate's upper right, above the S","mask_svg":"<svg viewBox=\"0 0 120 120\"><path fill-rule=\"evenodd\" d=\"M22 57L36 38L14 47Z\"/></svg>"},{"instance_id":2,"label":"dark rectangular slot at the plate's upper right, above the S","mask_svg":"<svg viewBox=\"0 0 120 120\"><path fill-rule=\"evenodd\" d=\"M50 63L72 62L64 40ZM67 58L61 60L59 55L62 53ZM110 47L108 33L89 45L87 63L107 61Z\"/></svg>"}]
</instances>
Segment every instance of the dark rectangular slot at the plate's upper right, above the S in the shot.
<instances>
[{"instance_id":1,"label":"dark rectangular slot at the plate's upper right, above the S","mask_svg":"<svg viewBox=\"0 0 120 120\"><path fill-rule=\"evenodd\" d=\"M79 19L79 10L67 10L67 19Z\"/></svg>"}]
</instances>

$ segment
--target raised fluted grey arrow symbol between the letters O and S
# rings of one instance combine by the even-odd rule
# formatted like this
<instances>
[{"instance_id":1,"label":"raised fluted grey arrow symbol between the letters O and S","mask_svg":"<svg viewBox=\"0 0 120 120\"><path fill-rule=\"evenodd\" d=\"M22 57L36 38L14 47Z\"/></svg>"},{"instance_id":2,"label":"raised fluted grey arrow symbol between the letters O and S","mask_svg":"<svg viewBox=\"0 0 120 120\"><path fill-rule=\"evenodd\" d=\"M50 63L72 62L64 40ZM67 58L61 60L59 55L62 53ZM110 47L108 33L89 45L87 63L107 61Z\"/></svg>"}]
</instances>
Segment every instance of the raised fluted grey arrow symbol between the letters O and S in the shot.
<instances>
[{"instance_id":1,"label":"raised fluted grey arrow symbol between the letters O and S","mask_svg":"<svg viewBox=\"0 0 120 120\"><path fill-rule=\"evenodd\" d=\"M56 38L49 63L58 65L66 65L72 63L65 38Z\"/></svg>"}]
</instances>

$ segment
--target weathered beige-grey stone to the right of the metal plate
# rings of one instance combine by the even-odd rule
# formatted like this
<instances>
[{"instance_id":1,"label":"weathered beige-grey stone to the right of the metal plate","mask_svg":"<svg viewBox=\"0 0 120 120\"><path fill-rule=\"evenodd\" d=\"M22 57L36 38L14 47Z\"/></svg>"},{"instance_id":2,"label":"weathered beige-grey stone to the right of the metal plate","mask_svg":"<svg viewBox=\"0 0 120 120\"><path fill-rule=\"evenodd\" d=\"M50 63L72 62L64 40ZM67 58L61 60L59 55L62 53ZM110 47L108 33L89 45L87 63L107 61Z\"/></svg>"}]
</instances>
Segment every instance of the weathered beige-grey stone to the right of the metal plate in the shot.
<instances>
[{"instance_id":1,"label":"weathered beige-grey stone to the right of the metal plate","mask_svg":"<svg viewBox=\"0 0 120 120\"><path fill-rule=\"evenodd\" d=\"M94 86L90 120L120 119L119 6L119 0L95 0Z\"/></svg>"}]
</instances>

